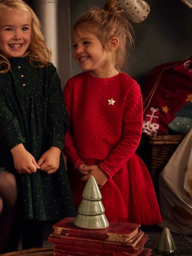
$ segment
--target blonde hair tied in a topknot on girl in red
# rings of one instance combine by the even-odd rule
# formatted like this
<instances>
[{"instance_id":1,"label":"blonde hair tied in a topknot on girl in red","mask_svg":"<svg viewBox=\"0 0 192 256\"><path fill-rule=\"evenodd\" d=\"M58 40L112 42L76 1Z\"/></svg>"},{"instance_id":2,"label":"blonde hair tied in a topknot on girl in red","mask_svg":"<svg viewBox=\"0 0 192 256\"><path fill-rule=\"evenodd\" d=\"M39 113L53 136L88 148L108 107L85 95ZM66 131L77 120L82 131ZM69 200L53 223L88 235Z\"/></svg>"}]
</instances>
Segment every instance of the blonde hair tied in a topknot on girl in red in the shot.
<instances>
[{"instance_id":1,"label":"blonde hair tied in a topknot on girl in red","mask_svg":"<svg viewBox=\"0 0 192 256\"><path fill-rule=\"evenodd\" d=\"M124 9L118 7L116 0L108 0L103 9L98 7L89 9L75 22L73 30L76 32L78 29L94 33L105 50L109 49L110 38L117 37L119 45L113 59L118 71L125 69L126 50L134 44L134 33Z\"/></svg>"}]
</instances>

